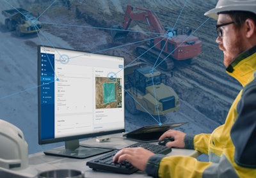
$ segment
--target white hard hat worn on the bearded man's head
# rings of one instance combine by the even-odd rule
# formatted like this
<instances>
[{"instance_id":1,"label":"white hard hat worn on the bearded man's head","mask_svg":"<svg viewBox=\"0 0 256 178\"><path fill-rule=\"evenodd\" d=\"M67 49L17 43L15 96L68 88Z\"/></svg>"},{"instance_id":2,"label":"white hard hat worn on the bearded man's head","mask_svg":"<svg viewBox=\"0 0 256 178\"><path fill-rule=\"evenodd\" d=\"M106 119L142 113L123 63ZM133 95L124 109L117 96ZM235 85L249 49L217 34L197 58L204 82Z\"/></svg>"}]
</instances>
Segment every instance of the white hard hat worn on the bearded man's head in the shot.
<instances>
[{"instance_id":1,"label":"white hard hat worn on the bearded man's head","mask_svg":"<svg viewBox=\"0 0 256 178\"><path fill-rule=\"evenodd\" d=\"M216 7L204 15L218 19L218 13L223 11L251 11L256 14L256 0L219 0Z\"/></svg>"}]
</instances>

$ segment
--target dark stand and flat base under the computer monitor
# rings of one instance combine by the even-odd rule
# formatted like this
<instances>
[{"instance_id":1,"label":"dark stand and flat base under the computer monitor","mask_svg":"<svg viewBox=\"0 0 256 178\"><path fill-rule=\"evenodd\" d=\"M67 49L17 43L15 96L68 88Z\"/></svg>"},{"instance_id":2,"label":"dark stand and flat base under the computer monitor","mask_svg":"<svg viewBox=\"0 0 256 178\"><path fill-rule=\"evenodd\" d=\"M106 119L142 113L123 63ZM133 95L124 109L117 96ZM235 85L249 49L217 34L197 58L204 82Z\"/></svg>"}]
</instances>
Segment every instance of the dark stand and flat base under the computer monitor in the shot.
<instances>
[{"instance_id":1,"label":"dark stand and flat base under the computer monitor","mask_svg":"<svg viewBox=\"0 0 256 178\"><path fill-rule=\"evenodd\" d=\"M51 156L62 156L68 158L88 158L113 151L114 149L105 147L93 147L90 145L79 145L79 140L70 140L65 142L65 147L57 147L44 151L44 154Z\"/></svg>"}]
</instances>

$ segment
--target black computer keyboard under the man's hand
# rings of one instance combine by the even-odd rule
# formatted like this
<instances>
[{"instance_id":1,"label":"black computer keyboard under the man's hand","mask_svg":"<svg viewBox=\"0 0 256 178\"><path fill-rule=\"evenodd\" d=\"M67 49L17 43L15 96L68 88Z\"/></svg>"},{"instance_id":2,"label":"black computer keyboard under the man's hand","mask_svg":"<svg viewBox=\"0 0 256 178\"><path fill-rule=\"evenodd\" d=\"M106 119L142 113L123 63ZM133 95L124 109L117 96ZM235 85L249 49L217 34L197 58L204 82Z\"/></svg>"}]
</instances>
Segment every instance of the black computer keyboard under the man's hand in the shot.
<instances>
[{"instance_id":1,"label":"black computer keyboard under the man's hand","mask_svg":"<svg viewBox=\"0 0 256 178\"><path fill-rule=\"evenodd\" d=\"M168 154L172 151L170 147L145 142L138 142L136 144L129 145L128 147L143 147L156 154ZM90 160L86 163L86 165L90 168L93 168L93 170L104 170L120 174L132 174L138 171L138 168L133 167L128 161L122 161L122 163L113 162L113 156L115 156L116 152L118 151L119 150L115 150L113 152L105 154L104 156L100 156L99 158Z\"/></svg>"}]
</instances>

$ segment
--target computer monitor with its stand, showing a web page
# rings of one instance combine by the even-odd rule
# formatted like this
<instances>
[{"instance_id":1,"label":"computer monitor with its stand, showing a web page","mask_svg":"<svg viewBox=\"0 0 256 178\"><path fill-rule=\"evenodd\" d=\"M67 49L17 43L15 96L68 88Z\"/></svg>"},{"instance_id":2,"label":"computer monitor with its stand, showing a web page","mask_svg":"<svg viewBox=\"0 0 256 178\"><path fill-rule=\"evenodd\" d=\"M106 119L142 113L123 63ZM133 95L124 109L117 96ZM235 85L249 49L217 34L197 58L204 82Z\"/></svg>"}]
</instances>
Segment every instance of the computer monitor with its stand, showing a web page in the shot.
<instances>
[{"instance_id":1,"label":"computer monitor with its stand, showing a web page","mask_svg":"<svg viewBox=\"0 0 256 178\"><path fill-rule=\"evenodd\" d=\"M87 158L113 149L79 139L125 131L124 57L38 46L38 142L45 154Z\"/></svg>"}]
</instances>

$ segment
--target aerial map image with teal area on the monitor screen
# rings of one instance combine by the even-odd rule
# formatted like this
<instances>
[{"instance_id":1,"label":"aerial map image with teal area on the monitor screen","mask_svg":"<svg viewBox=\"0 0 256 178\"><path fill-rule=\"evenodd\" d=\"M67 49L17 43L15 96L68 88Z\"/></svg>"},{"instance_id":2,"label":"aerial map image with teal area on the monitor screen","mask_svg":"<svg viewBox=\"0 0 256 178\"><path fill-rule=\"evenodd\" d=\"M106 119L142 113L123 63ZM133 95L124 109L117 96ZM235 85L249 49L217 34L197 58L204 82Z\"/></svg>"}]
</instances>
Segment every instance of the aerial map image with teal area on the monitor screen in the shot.
<instances>
[{"instance_id":1,"label":"aerial map image with teal area on the monitor screen","mask_svg":"<svg viewBox=\"0 0 256 178\"><path fill-rule=\"evenodd\" d=\"M96 77L95 102L96 108L122 107L121 78Z\"/></svg>"}]
</instances>

